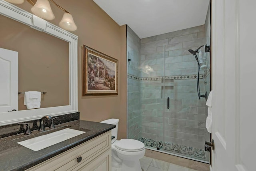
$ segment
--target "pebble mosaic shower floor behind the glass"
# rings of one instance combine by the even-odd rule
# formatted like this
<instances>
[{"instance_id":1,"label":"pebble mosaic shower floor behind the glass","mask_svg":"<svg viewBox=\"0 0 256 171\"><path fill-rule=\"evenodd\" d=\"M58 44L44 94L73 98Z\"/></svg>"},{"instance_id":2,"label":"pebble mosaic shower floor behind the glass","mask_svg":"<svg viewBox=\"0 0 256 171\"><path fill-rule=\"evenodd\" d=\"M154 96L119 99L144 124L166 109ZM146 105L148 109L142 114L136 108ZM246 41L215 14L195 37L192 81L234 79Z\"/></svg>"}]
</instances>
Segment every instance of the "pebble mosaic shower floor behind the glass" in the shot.
<instances>
[{"instance_id":1,"label":"pebble mosaic shower floor behind the glass","mask_svg":"<svg viewBox=\"0 0 256 171\"><path fill-rule=\"evenodd\" d=\"M163 141L157 141L157 140L144 138L144 137L140 137L138 141L141 141L142 143L145 144L145 146L148 146L148 147L153 147L153 148L159 147L160 149L163 149ZM186 145L167 143L167 142L165 143L164 149L170 152L187 155L189 157L197 157L203 160L206 159L206 155L203 149L188 147Z\"/></svg>"}]
</instances>

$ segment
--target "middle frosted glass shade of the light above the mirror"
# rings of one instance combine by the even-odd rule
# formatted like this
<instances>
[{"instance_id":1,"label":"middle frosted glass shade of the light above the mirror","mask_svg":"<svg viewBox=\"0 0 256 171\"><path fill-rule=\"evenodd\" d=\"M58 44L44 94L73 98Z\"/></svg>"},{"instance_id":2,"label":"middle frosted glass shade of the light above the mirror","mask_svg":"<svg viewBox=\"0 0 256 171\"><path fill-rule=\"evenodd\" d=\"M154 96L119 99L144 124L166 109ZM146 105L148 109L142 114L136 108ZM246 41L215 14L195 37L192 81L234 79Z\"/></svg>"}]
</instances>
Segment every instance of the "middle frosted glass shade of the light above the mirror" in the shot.
<instances>
[{"instance_id":1,"label":"middle frosted glass shade of the light above the mirror","mask_svg":"<svg viewBox=\"0 0 256 171\"><path fill-rule=\"evenodd\" d=\"M55 18L48 0L37 0L31 11L38 17L53 20Z\"/></svg>"}]
</instances>

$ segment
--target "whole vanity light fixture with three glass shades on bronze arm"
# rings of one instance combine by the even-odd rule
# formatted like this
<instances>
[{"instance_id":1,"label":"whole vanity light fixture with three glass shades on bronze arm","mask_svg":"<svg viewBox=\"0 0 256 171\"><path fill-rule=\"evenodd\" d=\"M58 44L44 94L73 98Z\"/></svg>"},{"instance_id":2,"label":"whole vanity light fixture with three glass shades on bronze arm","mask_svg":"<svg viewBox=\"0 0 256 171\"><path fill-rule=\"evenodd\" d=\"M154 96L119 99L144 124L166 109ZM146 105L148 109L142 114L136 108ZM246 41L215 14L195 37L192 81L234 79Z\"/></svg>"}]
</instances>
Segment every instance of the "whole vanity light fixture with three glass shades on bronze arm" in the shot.
<instances>
[{"instance_id":1,"label":"whole vanity light fixture with three glass shades on bronze arm","mask_svg":"<svg viewBox=\"0 0 256 171\"><path fill-rule=\"evenodd\" d=\"M24 0L6 0L7 2L10 2L12 4L22 4ZM31 11L38 17L46 19L46 20L53 20L55 18L52 9L50 7L50 3L48 0L37 0L34 2L34 0L27 0L33 7L31 8ZM50 0L55 6L60 8L62 11L64 11L64 15L62 17L62 20L59 23L59 26L63 28L64 30L68 31L75 31L77 29L77 26L73 20L72 15L70 12L56 4L54 0Z\"/></svg>"}]
</instances>

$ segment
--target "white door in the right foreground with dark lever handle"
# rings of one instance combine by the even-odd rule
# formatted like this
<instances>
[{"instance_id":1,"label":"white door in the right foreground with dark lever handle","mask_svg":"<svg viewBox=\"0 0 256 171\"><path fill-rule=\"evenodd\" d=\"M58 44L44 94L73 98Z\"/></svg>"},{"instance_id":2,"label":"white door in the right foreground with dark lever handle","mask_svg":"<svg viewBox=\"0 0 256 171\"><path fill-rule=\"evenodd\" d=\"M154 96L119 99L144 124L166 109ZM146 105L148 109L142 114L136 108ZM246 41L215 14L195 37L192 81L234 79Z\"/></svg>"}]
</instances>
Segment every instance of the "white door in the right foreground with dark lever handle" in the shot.
<instances>
[{"instance_id":1,"label":"white door in the right foreground with dark lever handle","mask_svg":"<svg viewBox=\"0 0 256 171\"><path fill-rule=\"evenodd\" d=\"M212 0L213 171L256 171L255 9Z\"/></svg>"}]
</instances>

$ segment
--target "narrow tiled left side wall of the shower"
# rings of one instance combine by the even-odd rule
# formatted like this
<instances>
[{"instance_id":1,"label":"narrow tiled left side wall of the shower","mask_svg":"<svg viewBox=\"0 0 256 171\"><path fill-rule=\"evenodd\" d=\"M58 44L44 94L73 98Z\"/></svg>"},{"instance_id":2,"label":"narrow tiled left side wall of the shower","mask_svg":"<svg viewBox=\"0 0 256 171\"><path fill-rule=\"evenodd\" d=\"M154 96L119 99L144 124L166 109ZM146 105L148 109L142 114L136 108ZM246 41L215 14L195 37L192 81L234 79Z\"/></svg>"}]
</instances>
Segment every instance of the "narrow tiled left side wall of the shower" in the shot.
<instances>
[{"instance_id":1,"label":"narrow tiled left side wall of the shower","mask_svg":"<svg viewBox=\"0 0 256 171\"><path fill-rule=\"evenodd\" d=\"M128 137L140 138L140 38L127 26Z\"/></svg>"}]
</instances>

